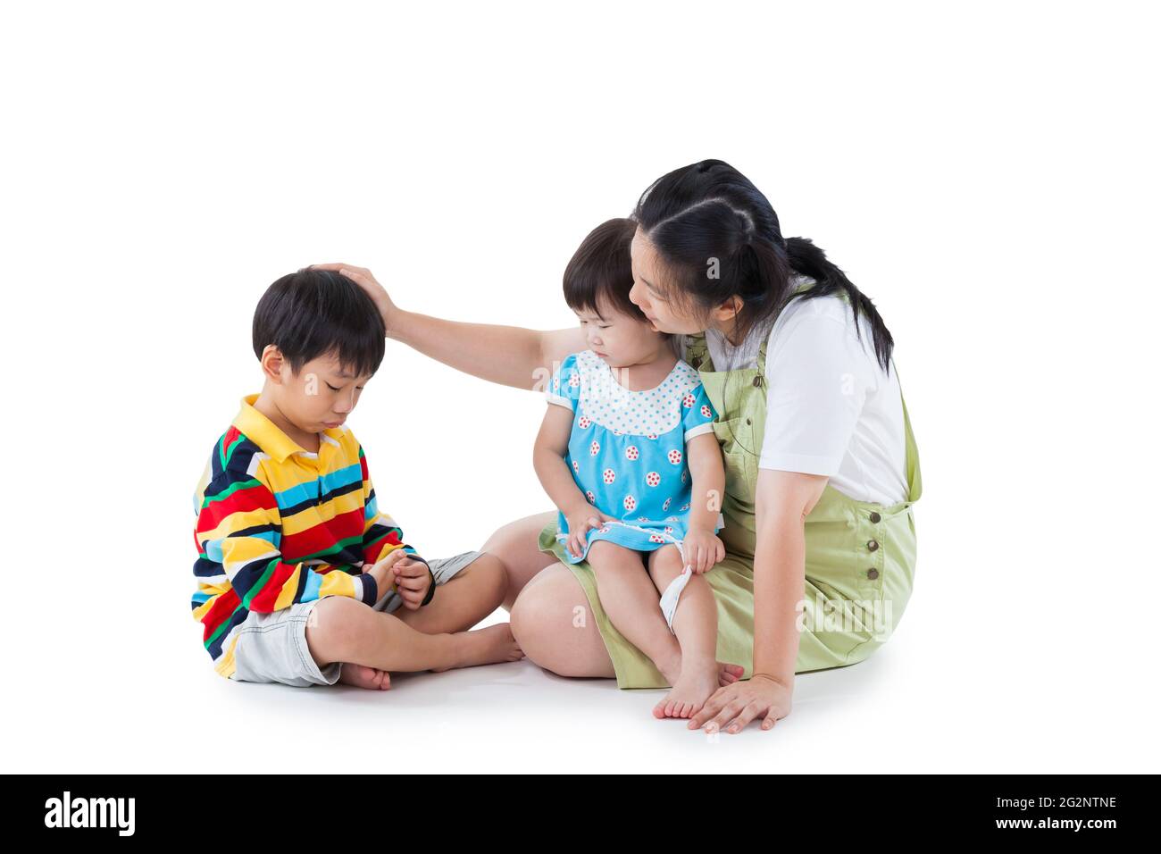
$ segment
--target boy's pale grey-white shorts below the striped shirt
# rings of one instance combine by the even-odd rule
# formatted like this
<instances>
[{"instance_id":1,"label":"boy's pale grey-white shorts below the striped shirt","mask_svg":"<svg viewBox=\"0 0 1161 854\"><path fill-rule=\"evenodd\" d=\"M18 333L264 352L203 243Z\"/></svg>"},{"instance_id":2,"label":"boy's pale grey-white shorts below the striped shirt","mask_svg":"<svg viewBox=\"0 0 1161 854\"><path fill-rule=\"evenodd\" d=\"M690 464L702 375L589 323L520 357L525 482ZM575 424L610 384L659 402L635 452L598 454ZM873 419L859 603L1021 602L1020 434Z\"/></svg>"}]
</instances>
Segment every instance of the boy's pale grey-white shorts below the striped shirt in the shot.
<instances>
[{"instance_id":1,"label":"boy's pale grey-white shorts below the striped shirt","mask_svg":"<svg viewBox=\"0 0 1161 854\"><path fill-rule=\"evenodd\" d=\"M462 552L452 558L427 561L435 576L435 584L444 584L455 577L481 554L483 552ZM238 627L238 643L233 647L236 669L230 679L239 682L280 682L295 688L333 686L338 682L342 662L332 661L319 668L307 646L307 622L319 602L322 600L296 602L273 613L251 611ZM395 590L388 590L375 603L375 610L390 613L402 604L403 598Z\"/></svg>"}]
</instances>

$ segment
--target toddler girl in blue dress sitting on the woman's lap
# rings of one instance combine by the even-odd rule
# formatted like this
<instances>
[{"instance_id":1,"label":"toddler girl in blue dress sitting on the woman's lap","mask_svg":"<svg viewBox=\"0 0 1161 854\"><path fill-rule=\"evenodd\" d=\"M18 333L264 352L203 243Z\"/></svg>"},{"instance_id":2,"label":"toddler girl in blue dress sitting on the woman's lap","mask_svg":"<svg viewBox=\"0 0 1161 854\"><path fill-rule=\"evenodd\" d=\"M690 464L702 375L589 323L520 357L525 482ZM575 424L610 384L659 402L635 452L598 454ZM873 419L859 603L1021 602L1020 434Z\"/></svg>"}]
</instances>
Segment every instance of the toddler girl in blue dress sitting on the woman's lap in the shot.
<instances>
[{"instance_id":1,"label":"toddler girl in blue dress sitting on the woman's lap","mask_svg":"<svg viewBox=\"0 0 1161 854\"><path fill-rule=\"evenodd\" d=\"M590 349L553 372L534 464L560 510L564 559L587 560L610 620L672 686L654 713L686 718L724 681L700 574L726 553L726 475L698 372L629 301L634 230L629 220L599 225L565 271Z\"/></svg>"}]
</instances>

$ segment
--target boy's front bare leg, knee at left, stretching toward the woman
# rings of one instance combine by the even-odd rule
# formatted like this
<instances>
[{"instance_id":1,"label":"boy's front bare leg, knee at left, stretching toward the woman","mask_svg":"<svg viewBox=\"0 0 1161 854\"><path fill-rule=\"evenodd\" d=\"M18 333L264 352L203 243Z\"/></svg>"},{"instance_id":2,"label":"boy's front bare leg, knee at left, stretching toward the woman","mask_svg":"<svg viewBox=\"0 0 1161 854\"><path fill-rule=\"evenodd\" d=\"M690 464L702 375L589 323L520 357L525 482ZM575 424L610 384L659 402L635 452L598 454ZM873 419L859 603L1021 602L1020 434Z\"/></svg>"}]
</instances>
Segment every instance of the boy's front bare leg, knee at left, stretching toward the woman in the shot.
<instances>
[{"instance_id":1,"label":"boy's front bare leg, knee at left, stretching toward the woman","mask_svg":"<svg viewBox=\"0 0 1161 854\"><path fill-rule=\"evenodd\" d=\"M425 634L346 596L326 596L315 605L307 622L307 646L319 667L341 661L388 672L444 670L522 658L507 623Z\"/></svg>"}]
</instances>

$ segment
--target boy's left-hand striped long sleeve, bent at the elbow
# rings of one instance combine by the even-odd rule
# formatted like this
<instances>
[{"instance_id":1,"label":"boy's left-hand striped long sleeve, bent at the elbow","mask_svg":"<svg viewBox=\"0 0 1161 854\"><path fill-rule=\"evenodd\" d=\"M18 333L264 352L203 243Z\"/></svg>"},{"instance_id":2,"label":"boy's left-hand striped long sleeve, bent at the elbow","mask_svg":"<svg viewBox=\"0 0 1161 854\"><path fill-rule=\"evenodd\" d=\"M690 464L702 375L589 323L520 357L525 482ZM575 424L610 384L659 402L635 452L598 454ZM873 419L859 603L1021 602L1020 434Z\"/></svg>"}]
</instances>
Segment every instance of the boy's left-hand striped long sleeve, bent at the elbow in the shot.
<instances>
[{"instance_id":1,"label":"boy's left-hand striped long sleeve, bent at the elbow","mask_svg":"<svg viewBox=\"0 0 1161 854\"><path fill-rule=\"evenodd\" d=\"M226 469L208 486L195 530L199 579L229 580L251 611L271 613L323 596L349 596L369 605L378 600L375 579L368 574L284 561L274 493L246 472Z\"/></svg>"}]
</instances>

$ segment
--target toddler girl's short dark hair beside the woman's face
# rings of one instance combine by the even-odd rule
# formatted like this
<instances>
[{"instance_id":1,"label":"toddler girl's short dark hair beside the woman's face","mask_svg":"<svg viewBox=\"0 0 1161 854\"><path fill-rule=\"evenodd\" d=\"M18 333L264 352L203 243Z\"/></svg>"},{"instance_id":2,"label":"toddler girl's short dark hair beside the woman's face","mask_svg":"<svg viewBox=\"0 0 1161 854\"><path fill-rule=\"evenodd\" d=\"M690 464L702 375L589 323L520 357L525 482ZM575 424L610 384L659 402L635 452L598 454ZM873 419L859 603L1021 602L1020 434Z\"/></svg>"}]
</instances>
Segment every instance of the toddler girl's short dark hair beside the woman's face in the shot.
<instances>
[{"instance_id":1,"label":"toddler girl's short dark hair beside the woman's face","mask_svg":"<svg viewBox=\"0 0 1161 854\"><path fill-rule=\"evenodd\" d=\"M600 315L598 297L618 311L646 322L644 313L629 302L633 263L629 244L637 224L614 218L589 232L564 268L564 301L574 311Z\"/></svg>"}]
</instances>

